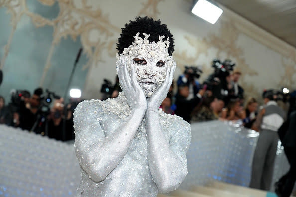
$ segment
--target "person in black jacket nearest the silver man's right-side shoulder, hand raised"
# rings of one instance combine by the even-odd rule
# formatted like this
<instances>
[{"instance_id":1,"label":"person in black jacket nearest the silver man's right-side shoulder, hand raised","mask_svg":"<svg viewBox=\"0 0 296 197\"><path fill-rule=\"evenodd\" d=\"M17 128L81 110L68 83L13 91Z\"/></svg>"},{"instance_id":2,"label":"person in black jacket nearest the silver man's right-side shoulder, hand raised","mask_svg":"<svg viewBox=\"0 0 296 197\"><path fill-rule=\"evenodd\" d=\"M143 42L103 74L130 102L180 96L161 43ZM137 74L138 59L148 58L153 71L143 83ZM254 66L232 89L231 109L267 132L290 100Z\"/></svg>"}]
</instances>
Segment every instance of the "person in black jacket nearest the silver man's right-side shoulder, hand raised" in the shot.
<instances>
[{"instance_id":1,"label":"person in black jacket nearest the silver man's right-side shoulder, hand raised","mask_svg":"<svg viewBox=\"0 0 296 197\"><path fill-rule=\"evenodd\" d=\"M182 117L185 121L190 122L192 110L200 103L204 90L201 89L194 98L188 100L189 86L188 84L180 84L176 95L176 111L175 114Z\"/></svg>"}]
</instances>

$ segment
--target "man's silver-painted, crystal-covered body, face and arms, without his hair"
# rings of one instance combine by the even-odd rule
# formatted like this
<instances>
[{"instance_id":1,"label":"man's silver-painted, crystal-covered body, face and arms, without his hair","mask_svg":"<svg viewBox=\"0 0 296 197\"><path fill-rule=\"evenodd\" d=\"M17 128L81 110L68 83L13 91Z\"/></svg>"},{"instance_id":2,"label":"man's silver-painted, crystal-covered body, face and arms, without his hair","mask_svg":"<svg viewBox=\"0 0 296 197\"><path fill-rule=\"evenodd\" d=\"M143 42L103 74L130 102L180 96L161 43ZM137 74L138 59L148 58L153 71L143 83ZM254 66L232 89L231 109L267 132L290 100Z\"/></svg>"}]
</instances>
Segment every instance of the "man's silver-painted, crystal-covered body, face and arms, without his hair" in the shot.
<instances>
[{"instance_id":1,"label":"man's silver-painted, crystal-covered body, face and arms, without his hair","mask_svg":"<svg viewBox=\"0 0 296 197\"><path fill-rule=\"evenodd\" d=\"M75 110L77 197L156 197L175 190L187 174L190 125L159 110L176 63L168 53L169 38L159 35L150 42L148 33L144 38L137 33L117 55L123 92L106 101L84 101Z\"/></svg>"}]
</instances>

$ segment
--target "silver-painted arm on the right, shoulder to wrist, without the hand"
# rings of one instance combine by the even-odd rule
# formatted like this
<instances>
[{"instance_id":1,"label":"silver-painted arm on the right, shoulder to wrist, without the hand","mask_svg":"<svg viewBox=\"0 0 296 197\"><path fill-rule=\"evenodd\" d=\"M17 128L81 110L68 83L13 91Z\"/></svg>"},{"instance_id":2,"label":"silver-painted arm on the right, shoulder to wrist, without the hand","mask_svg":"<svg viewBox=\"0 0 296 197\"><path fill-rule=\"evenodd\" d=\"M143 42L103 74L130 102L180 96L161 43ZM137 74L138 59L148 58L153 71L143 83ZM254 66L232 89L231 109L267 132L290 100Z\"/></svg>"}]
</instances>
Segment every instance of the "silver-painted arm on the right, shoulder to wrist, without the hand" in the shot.
<instances>
[{"instance_id":1,"label":"silver-painted arm on the right, shoulder to wrist, without the hand","mask_svg":"<svg viewBox=\"0 0 296 197\"><path fill-rule=\"evenodd\" d=\"M190 125L177 116L170 119L174 135L167 139L159 122L159 113L145 115L149 168L160 192L175 190L187 175L186 152L190 145Z\"/></svg>"}]
</instances>

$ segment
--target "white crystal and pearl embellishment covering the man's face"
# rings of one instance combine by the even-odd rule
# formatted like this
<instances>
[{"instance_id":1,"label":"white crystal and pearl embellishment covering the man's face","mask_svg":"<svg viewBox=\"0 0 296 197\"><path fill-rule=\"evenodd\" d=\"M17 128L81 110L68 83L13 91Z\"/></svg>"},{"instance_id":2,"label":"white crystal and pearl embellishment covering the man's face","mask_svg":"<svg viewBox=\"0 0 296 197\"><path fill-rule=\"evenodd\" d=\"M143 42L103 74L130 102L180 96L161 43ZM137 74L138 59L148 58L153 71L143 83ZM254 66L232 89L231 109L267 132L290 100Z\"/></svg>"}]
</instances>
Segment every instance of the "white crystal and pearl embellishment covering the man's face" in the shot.
<instances>
[{"instance_id":1,"label":"white crystal and pearl embellishment covering the man's face","mask_svg":"<svg viewBox=\"0 0 296 197\"><path fill-rule=\"evenodd\" d=\"M116 69L118 72L119 66L126 64L128 71L131 72L134 67L136 80L145 96L151 97L163 84L166 71L174 65L174 59L168 54L169 37L163 41L165 36L159 36L159 41L156 43L148 40L149 34L143 33L144 39L139 35L140 33L137 33L134 36L135 41L128 48L124 48L122 54L116 54ZM135 59L142 61L141 64Z\"/></svg>"}]
</instances>

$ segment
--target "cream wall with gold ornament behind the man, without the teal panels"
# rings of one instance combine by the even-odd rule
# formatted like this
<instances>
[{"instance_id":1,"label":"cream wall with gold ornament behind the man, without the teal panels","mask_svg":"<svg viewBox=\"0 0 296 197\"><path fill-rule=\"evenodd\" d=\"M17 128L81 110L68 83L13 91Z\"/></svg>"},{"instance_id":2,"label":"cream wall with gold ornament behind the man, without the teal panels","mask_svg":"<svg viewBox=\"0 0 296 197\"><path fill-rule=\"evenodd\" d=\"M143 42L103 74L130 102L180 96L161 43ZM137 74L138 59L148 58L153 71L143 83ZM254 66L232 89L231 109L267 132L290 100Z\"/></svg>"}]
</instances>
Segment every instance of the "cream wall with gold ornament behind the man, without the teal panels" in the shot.
<instances>
[{"instance_id":1,"label":"cream wall with gold ornament behind the man, without the teal panels","mask_svg":"<svg viewBox=\"0 0 296 197\"><path fill-rule=\"evenodd\" d=\"M173 55L178 63L175 77L183 71L184 65L194 64L203 67L202 81L212 72L213 58L231 58L243 72L240 83L247 95L259 98L264 88L296 89L293 83L296 80L296 49L226 8L218 22L212 25L191 14L191 0L38 0L45 6L59 6L59 14L53 19L30 12L25 0L2 1L0 6L8 7L13 16L10 38L13 38L19 18L24 15L31 18L36 28L52 26L54 29L40 85L44 85L48 77L57 43L68 35L79 36L89 58L84 65L88 69L84 97L99 98L103 78L115 78L115 44L120 28L138 15L148 15L161 19L174 34ZM15 2L19 5L11 7ZM1 57L4 67L9 42Z\"/></svg>"}]
</instances>

